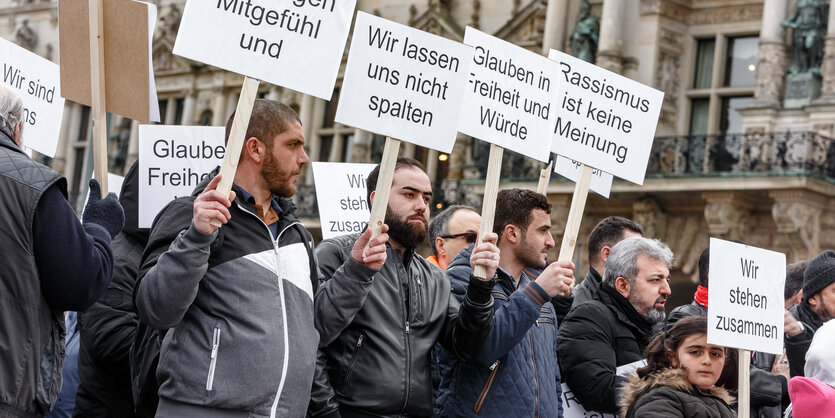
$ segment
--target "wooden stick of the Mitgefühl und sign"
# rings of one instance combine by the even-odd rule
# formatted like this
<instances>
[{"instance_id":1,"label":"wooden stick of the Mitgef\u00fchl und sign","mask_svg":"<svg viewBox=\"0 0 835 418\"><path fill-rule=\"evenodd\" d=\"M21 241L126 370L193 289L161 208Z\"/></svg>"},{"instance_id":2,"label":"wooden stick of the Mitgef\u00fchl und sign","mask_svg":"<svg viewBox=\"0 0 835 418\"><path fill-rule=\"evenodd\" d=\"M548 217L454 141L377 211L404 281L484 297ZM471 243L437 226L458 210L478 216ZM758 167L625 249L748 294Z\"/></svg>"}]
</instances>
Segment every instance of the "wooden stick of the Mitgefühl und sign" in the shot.
<instances>
[{"instance_id":1,"label":"wooden stick of the Mitgef\u00fchl und sign","mask_svg":"<svg viewBox=\"0 0 835 418\"><path fill-rule=\"evenodd\" d=\"M260 84L260 81L246 77L243 86L241 86L241 96L238 98L235 119L232 121L229 141L226 144L226 155L224 155L223 164L220 166L220 174L223 177L217 185L217 191L224 196L229 196L229 192L232 191L235 172L238 171L238 161L241 159L241 150L247 140L246 131L249 129L249 118L252 116L252 107L255 105ZM220 227L222 224L218 220L213 220L212 225Z\"/></svg>"}]
</instances>

